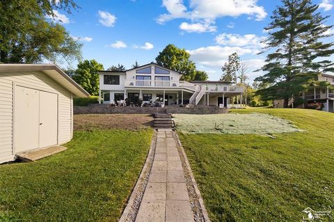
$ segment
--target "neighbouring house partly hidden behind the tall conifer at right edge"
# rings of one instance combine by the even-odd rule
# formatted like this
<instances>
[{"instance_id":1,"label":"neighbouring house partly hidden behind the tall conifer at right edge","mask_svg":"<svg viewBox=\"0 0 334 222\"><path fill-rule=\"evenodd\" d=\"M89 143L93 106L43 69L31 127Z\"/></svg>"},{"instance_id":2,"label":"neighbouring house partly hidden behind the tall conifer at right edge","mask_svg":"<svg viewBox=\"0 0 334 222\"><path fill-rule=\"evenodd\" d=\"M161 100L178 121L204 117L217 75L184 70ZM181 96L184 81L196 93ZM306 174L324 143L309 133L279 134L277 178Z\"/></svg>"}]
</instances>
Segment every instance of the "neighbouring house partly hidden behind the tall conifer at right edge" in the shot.
<instances>
[{"instance_id":1,"label":"neighbouring house partly hidden behind the tall conifer at right edge","mask_svg":"<svg viewBox=\"0 0 334 222\"><path fill-rule=\"evenodd\" d=\"M318 76L319 81L328 81L334 86L334 73L320 74ZM334 90L330 88L313 87L308 92L303 93L303 99L308 104L310 103L321 103L324 108L323 111L334 113Z\"/></svg>"}]
</instances>

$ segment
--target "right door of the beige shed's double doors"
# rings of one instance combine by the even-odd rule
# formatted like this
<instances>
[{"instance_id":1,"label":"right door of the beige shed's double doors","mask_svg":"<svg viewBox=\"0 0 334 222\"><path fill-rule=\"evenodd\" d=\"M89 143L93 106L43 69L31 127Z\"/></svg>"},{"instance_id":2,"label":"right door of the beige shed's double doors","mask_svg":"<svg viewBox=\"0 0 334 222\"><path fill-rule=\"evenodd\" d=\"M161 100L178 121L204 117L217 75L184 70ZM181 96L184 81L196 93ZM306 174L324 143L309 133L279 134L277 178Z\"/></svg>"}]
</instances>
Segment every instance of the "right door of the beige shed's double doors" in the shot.
<instances>
[{"instance_id":1,"label":"right door of the beige shed's double doors","mask_svg":"<svg viewBox=\"0 0 334 222\"><path fill-rule=\"evenodd\" d=\"M40 91L40 148L57 144L58 95Z\"/></svg>"}]
</instances>

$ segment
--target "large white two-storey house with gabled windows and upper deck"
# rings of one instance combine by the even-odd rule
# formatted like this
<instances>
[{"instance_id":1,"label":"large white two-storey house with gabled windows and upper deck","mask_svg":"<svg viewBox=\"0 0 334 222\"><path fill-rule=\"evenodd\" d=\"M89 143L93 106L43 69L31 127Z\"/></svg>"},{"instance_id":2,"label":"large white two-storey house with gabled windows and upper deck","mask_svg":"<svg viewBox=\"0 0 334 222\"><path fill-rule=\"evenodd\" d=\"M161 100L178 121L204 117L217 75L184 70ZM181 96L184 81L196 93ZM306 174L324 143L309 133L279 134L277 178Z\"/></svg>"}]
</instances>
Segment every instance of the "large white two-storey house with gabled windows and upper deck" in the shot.
<instances>
[{"instance_id":1,"label":"large white two-storey house with gabled windows and upper deck","mask_svg":"<svg viewBox=\"0 0 334 222\"><path fill-rule=\"evenodd\" d=\"M180 81L182 74L156 63L125 72L100 71L100 101L113 104L129 99L143 104L164 102L166 106L194 104L230 106L230 97L244 93L243 87L222 81Z\"/></svg>"}]
</instances>

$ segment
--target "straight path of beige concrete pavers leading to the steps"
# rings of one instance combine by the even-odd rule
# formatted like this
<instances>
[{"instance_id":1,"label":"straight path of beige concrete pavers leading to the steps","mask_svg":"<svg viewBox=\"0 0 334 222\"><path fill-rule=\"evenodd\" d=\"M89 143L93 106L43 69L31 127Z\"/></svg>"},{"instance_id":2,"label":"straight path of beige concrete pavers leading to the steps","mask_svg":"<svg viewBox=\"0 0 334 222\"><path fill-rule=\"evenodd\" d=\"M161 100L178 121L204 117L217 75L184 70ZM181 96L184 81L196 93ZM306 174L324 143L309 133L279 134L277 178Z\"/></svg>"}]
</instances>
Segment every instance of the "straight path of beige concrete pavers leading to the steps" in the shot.
<instances>
[{"instance_id":1,"label":"straight path of beige concrete pavers leading to the steps","mask_svg":"<svg viewBox=\"0 0 334 222\"><path fill-rule=\"evenodd\" d=\"M193 221L186 180L172 130L159 130L148 185L136 221Z\"/></svg>"}]
</instances>

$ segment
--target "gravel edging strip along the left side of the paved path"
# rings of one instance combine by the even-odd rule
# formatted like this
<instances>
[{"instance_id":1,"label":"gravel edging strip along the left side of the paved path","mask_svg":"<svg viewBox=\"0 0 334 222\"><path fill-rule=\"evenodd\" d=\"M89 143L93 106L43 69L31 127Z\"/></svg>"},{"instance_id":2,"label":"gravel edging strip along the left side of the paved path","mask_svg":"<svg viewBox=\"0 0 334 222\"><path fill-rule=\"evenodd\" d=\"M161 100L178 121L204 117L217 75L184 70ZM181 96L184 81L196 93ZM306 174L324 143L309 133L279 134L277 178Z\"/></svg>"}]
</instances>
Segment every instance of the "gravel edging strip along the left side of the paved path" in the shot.
<instances>
[{"instance_id":1,"label":"gravel edging strip along the left side of the paved path","mask_svg":"<svg viewBox=\"0 0 334 222\"><path fill-rule=\"evenodd\" d=\"M136 216L141 205L141 200L144 196L145 188L148 185L148 179L150 177L150 172L154 160L156 144L157 131L154 130L150 145L150 151L148 152L148 157L141 171L141 175L139 176L136 185L134 186L134 189L132 191L132 194L127 202L127 207L125 207L124 211L122 212L122 216L119 220L120 222L132 222L136 220Z\"/></svg>"}]
</instances>

